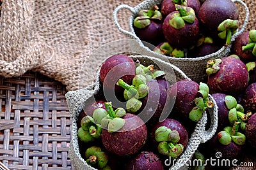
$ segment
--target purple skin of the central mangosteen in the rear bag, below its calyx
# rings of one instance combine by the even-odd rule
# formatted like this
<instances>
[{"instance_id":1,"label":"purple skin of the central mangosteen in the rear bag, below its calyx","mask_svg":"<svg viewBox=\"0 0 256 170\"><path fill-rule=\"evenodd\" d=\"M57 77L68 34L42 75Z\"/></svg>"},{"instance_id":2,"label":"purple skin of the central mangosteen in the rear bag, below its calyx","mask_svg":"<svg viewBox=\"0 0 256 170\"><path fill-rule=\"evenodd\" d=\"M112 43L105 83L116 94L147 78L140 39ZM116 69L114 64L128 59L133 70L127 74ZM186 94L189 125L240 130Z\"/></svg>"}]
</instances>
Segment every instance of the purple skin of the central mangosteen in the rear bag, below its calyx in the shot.
<instances>
[{"instance_id":1,"label":"purple skin of the central mangosteen in the rear bag, below its calyx","mask_svg":"<svg viewBox=\"0 0 256 170\"><path fill-rule=\"evenodd\" d=\"M164 38L170 45L176 46L177 48L188 48L193 45L197 40L200 29L198 19L195 17L193 24L188 24L181 29L175 29L169 24L170 18L176 15L179 11L173 11L166 16L163 22L163 34Z\"/></svg>"}]
</instances>

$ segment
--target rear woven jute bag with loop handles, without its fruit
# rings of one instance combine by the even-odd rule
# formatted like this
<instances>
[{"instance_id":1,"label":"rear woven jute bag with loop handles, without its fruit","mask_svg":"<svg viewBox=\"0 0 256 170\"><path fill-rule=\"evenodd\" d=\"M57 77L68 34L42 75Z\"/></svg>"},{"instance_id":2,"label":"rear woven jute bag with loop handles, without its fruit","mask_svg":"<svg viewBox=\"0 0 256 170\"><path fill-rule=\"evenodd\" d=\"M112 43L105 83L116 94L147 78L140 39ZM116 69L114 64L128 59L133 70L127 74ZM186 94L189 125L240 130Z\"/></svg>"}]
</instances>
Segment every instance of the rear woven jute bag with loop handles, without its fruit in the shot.
<instances>
[{"instance_id":1,"label":"rear woven jute bag with loop handles, without its fruit","mask_svg":"<svg viewBox=\"0 0 256 170\"><path fill-rule=\"evenodd\" d=\"M140 38L136 35L136 33L134 31L134 27L133 27L134 18L136 16L138 16L138 13L140 10L149 10L155 4L161 4L162 1L163 0L146 0L134 7L131 7L127 4L121 4L113 12L113 17L114 17L116 27L118 27L118 29L122 33L126 34L127 36L134 38L134 39L138 39L138 41L140 41ZM175 58L175 57L168 57L163 54L155 53L152 51L151 46L147 46L147 45L145 45L145 42L140 41L140 45L144 48L143 53L145 53L145 55L154 56L159 59L168 59L172 64L174 64L175 66L179 67L182 71L184 71L184 73L187 76L189 76L189 78L191 78L192 80L194 80L196 82L205 81L207 79L207 75L205 74L205 66L206 66L207 61L210 59L220 59L222 57L226 57L230 53L230 48L232 46L232 42L237 38L237 36L239 36L240 34L243 33L243 31L246 29L246 26L248 25L248 19L249 19L249 15L250 15L248 6L241 0L232 0L232 1L236 4L241 5L240 9L242 11L243 10L245 11L245 16L240 15L239 22L242 25L238 29L238 31L232 36L230 45L227 45L227 46L224 45L217 52L211 53L209 55L205 55L203 57ZM120 25L120 23L118 22L119 20L118 20L117 13L118 13L118 11L124 10L124 9L130 10L132 13L129 21L127 21L127 22L129 22L129 30L123 29L122 25ZM241 18L243 18L243 20L241 20Z\"/></svg>"}]
</instances>

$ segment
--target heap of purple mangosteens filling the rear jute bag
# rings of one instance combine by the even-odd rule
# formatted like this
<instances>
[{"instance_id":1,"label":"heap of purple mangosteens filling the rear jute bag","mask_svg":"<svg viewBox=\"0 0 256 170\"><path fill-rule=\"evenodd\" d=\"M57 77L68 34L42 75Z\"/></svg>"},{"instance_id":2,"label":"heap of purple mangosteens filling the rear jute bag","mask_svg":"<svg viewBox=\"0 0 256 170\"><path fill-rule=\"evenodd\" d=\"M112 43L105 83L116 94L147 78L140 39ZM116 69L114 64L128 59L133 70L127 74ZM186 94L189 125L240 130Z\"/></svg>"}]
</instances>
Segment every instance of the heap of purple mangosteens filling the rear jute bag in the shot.
<instances>
[{"instance_id":1,"label":"heap of purple mangosteens filling the rear jute bag","mask_svg":"<svg viewBox=\"0 0 256 170\"><path fill-rule=\"evenodd\" d=\"M171 57L202 57L230 45L239 27L231 0L163 0L134 18L136 36Z\"/></svg>"}]
</instances>

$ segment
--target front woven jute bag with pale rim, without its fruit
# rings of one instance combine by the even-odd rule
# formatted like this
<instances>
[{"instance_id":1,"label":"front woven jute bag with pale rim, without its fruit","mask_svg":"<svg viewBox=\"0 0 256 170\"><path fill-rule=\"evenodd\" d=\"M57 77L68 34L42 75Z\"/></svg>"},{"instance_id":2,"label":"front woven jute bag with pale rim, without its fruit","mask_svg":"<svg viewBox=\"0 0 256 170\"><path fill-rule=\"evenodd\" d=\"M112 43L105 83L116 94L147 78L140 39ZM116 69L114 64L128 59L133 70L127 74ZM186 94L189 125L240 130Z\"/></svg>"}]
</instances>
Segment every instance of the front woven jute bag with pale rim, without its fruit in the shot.
<instances>
[{"instance_id":1,"label":"front woven jute bag with pale rim, without its fruit","mask_svg":"<svg viewBox=\"0 0 256 170\"><path fill-rule=\"evenodd\" d=\"M176 81L184 79L190 80L190 78L188 78L188 76L186 76L186 74L184 74L179 69L179 67L170 64L170 62L157 59L156 57L149 57L147 55L129 56L134 60L139 60L144 66L154 64L154 66L160 67L161 70L166 72L166 74L171 74L170 80L168 79L171 83L175 83ZM88 164L81 157L81 153L79 153L77 138L77 117L80 111L83 110L86 102L88 102L88 100L92 98L94 94L97 94L97 92L99 92L99 88L100 83L98 73L97 80L92 85L84 89L70 91L66 94L68 109L70 110L70 115L72 117L72 139L70 141L68 154L70 156L72 164L74 165L74 167L76 167L76 169L94 169L93 167L88 166ZM170 167L170 169L187 169L188 167L186 166L186 163L191 160L200 143L205 143L206 141L211 139L216 132L218 124L218 107L211 95L209 95L209 99L214 103L214 107L204 112L202 118L196 124L195 130L191 134L191 138L189 138L189 143L186 150L184 150L182 155L180 155L179 159L175 161L175 164ZM205 129L207 114L209 114L211 117L211 125L209 129Z\"/></svg>"}]
</instances>

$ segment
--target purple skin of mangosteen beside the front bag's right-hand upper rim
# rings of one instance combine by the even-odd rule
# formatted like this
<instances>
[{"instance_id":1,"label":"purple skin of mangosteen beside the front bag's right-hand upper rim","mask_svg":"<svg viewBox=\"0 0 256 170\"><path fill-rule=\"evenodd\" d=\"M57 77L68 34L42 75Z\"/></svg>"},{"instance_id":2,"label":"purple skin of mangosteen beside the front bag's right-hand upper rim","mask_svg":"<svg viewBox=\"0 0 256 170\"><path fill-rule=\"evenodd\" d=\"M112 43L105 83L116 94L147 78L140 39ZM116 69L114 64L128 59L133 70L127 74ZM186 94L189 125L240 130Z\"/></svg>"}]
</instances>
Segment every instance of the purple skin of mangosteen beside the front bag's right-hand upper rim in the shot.
<instances>
[{"instance_id":1,"label":"purple skin of mangosteen beside the front bag's right-hand upper rim","mask_svg":"<svg viewBox=\"0 0 256 170\"><path fill-rule=\"evenodd\" d=\"M176 96L172 114L180 121L189 120L189 112L196 106L195 98L198 97L199 85L193 80L177 81L168 90L168 96L173 99Z\"/></svg>"}]
</instances>

